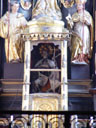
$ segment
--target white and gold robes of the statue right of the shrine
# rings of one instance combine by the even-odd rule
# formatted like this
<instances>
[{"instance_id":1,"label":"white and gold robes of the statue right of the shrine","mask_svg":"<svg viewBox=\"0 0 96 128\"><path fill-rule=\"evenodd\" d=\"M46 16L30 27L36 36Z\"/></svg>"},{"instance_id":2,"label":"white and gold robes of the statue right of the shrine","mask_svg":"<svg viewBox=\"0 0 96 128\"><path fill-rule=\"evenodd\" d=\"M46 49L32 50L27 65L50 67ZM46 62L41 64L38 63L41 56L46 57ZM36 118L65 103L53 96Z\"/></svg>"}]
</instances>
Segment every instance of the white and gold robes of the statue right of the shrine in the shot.
<instances>
[{"instance_id":1,"label":"white and gold robes of the statue right of the shrine","mask_svg":"<svg viewBox=\"0 0 96 128\"><path fill-rule=\"evenodd\" d=\"M91 15L84 10L81 13L76 12L72 16L74 22L73 30L79 35L78 37L72 37L72 62L84 62L89 63L88 59L91 58L93 49L93 20ZM81 54L83 57L81 57ZM77 63L78 63L77 62Z\"/></svg>"}]
</instances>

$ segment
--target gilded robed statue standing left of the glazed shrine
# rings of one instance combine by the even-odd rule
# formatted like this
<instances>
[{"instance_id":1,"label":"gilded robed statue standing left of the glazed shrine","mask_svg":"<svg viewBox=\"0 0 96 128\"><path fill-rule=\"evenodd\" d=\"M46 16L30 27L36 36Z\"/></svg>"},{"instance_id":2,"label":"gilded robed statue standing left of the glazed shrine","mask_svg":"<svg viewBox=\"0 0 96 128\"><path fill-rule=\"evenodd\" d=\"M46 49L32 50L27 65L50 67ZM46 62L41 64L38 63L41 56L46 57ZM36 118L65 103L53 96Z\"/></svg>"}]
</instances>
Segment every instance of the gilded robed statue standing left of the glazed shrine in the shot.
<instances>
[{"instance_id":1,"label":"gilded robed statue standing left of the glazed shrine","mask_svg":"<svg viewBox=\"0 0 96 128\"><path fill-rule=\"evenodd\" d=\"M10 12L6 12L0 19L0 36L5 38L5 54L7 62L22 62L24 43L21 33L26 27L27 21L21 13L18 13L19 3L10 3Z\"/></svg>"}]
</instances>

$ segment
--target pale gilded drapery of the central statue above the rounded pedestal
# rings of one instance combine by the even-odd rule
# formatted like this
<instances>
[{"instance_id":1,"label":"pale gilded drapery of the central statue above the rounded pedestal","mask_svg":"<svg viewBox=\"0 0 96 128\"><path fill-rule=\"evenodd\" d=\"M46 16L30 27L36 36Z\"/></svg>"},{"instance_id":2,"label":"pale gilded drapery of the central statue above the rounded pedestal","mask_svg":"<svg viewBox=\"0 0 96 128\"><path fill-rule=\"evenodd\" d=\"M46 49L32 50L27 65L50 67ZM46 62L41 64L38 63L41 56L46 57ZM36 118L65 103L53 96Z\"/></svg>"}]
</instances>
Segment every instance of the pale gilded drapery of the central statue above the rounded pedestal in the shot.
<instances>
[{"instance_id":1,"label":"pale gilded drapery of the central statue above the rounded pedestal","mask_svg":"<svg viewBox=\"0 0 96 128\"><path fill-rule=\"evenodd\" d=\"M39 19L40 17L61 20L62 15L57 0L38 0L32 10L32 18Z\"/></svg>"}]
</instances>

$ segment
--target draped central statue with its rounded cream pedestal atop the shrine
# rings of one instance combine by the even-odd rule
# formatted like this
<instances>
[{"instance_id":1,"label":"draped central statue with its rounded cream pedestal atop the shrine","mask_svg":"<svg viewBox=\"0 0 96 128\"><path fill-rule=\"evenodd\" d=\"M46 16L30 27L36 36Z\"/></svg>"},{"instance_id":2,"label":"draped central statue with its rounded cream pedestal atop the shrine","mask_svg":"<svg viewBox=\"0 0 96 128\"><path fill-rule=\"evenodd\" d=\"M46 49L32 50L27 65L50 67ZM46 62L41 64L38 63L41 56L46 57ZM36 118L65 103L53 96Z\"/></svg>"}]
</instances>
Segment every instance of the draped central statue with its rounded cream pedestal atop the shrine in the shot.
<instances>
[{"instance_id":1,"label":"draped central statue with its rounded cream pedestal atop the shrine","mask_svg":"<svg viewBox=\"0 0 96 128\"><path fill-rule=\"evenodd\" d=\"M65 0L35 1L33 0L32 20L28 22L29 33L68 33L68 30L64 27L65 23L62 20L62 13L59 7L59 2L65 5Z\"/></svg>"}]
</instances>

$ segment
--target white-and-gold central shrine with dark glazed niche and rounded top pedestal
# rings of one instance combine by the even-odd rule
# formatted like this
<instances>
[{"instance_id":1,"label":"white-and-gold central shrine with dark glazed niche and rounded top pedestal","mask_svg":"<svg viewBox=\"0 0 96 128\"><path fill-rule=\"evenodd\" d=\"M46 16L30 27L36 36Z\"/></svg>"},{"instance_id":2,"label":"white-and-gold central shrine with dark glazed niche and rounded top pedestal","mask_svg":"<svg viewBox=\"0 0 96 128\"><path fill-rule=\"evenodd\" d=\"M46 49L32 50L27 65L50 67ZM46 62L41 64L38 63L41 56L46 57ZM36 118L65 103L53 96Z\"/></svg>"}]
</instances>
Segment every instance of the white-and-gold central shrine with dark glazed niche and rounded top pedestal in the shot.
<instances>
[{"instance_id":1,"label":"white-and-gold central shrine with dark glazed niche and rounded top pedestal","mask_svg":"<svg viewBox=\"0 0 96 128\"><path fill-rule=\"evenodd\" d=\"M37 10L41 11L39 4L38 1ZM56 4L55 1L54 4ZM58 11L60 11L59 7ZM22 110L68 110L67 40L69 31L64 28L64 22L59 19L61 17L58 13L61 12L57 14L53 12L53 15L47 11L46 14L38 13L36 14L34 8L33 19L28 22L27 34L25 32L22 35L25 41ZM32 65L30 65L31 61ZM29 93L30 86L32 93Z\"/></svg>"}]
</instances>

